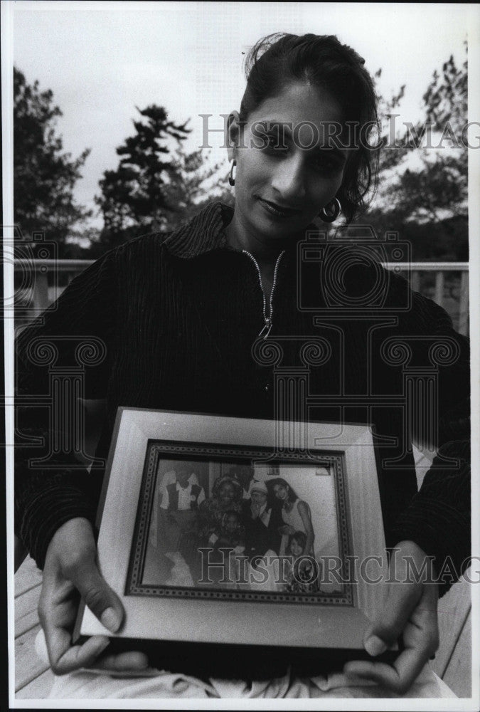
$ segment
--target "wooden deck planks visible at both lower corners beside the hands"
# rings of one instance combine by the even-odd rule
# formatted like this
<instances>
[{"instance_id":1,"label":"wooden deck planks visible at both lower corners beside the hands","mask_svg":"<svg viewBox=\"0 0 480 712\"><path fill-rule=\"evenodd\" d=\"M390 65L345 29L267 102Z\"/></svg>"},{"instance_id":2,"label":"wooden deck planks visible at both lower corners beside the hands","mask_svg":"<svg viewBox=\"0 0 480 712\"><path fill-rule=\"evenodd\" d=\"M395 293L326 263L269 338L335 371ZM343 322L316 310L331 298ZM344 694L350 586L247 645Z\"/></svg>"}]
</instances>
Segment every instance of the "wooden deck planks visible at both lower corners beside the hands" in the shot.
<instances>
[{"instance_id":1,"label":"wooden deck planks visible at both lower corners beside the hands","mask_svg":"<svg viewBox=\"0 0 480 712\"><path fill-rule=\"evenodd\" d=\"M16 700L44 699L53 674L35 651L42 575L27 557L15 575ZM455 584L439 602L440 647L432 666L458 697L471 697L471 585Z\"/></svg>"}]
</instances>

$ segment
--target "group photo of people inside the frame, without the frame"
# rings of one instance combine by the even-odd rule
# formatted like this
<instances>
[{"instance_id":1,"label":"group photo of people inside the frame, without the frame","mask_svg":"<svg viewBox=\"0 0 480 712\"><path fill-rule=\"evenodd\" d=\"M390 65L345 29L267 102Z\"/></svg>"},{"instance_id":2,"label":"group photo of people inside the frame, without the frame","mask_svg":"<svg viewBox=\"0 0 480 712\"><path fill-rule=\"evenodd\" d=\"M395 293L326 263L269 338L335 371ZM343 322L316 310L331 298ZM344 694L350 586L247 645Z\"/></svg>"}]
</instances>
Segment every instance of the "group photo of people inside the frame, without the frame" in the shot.
<instances>
[{"instance_id":1,"label":"group photo of people inside the frame, without the frame","mask_svg":"<svg viewBox=\"0 0 480 712\"><path fill-rule=\"evenodd\" d=\"M328 594L334 466L159 458L141 584Z\"/></svg>"}]
</instances>

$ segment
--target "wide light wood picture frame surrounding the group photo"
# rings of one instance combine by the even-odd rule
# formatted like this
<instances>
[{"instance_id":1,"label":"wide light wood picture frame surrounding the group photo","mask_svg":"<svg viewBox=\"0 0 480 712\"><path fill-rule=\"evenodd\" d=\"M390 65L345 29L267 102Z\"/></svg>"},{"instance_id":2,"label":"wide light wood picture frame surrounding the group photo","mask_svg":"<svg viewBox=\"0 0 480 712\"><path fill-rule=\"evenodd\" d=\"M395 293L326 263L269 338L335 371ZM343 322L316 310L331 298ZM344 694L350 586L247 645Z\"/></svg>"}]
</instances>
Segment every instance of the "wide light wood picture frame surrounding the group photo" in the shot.
<instances>
[{"instance_id":1,"label":"wide light wood picture frame surrounding the group photo","mask_svg":"<svg viewBox=\"0 0 480 712\"><path fill-rule=\"evenodd\" d=\"M347 549L343 554L356 562L357 572L342 600L320 597L312 605L311 598L292 600L290 595L248 597L222 592L217 597L196 597L171 596L158 590L152 590L150 595L142 591L137 591L140 595L127 595L129 577L132 585L131 562L139 513L148 506L148 498L142 502L142 497L148 490L149 476L154 473L152 444L157 452L158 446L165 452L176 449L189 453L194 447L196 455L203 449L210 453L206 453L207 459L212 454L221 458L227 452L231 456L239 450L259 459L259 454L265 457L270 452L274 461L283 463L299 454L298 448L276 449L278 433L298 431L298 424L119 408L99 510L98 539L100 570L126 611L117 637L363 649L368 619L382 600L383 587L378 580L385 580L388 571L372 436L363 425L309 423L302 427L301 456L315 464L321 464L328 456L337 462L341 476L342 501L337 498L337 508L344 508L341 518L346 529L341 536L346 536L343 542ZM368 560L375 564L372 582L358 576L358 563ZM80 634L111 635L87 608L81 614Z\"/></svg>"}]
</instances>

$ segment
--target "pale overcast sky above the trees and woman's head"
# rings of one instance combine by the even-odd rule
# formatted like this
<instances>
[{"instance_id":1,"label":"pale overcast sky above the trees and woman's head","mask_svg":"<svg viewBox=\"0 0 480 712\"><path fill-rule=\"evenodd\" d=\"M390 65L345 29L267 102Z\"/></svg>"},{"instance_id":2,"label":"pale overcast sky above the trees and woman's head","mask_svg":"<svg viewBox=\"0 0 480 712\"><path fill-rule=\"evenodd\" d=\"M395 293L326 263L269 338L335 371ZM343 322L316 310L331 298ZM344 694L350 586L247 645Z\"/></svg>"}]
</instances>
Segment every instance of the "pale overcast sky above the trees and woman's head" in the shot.
<instances>
[{"instance_id":1,"label":"pale overcast sky above the trees and woman's head","mask_svg":"<svg viewBox=\"0 0 480 712\"><path fill-rule=\"evenodd\" d=\"M74 157L91 149L75 188L94 207L98 181L118 164L115 148L133 133L138 108L164 105L173 120L190 118L187 147L201 145L203 120L223 126L238 108L242 58L275 31L336 34L358 51L386 96L406 84L398 121L417 120L434 69L450 54L464 59L467 4L302 2L10 1L13 58L29 83L53 90L63 111L58 132ZM225 160L219 132L211 160Z\"/></svg>"}]
</instances>

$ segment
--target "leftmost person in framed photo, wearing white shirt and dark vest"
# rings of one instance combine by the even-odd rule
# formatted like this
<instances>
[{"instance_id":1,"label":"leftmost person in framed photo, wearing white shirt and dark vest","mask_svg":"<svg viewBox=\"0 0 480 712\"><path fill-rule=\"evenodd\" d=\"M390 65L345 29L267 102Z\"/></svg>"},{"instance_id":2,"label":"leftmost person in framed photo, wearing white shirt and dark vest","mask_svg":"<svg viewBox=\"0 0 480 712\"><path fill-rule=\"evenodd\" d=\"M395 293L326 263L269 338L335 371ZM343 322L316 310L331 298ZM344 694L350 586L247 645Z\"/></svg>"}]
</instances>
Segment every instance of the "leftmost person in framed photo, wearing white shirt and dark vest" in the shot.
<instances>
[{"instance_id":1,"label":"leftmost person in framed photo, wearing white shirt and dark vest","mask_svg":"<svg viewBox=\"0 0 480 712\"><path fill-rule=\"evenodd\" d=\"M161 551L176 552L181 539L196 530L198 507L205 501L203 487L193 481L187 463L175 468L175 481L164 487L158 518L158 541Z\"/></svg>"}]
</instances>

